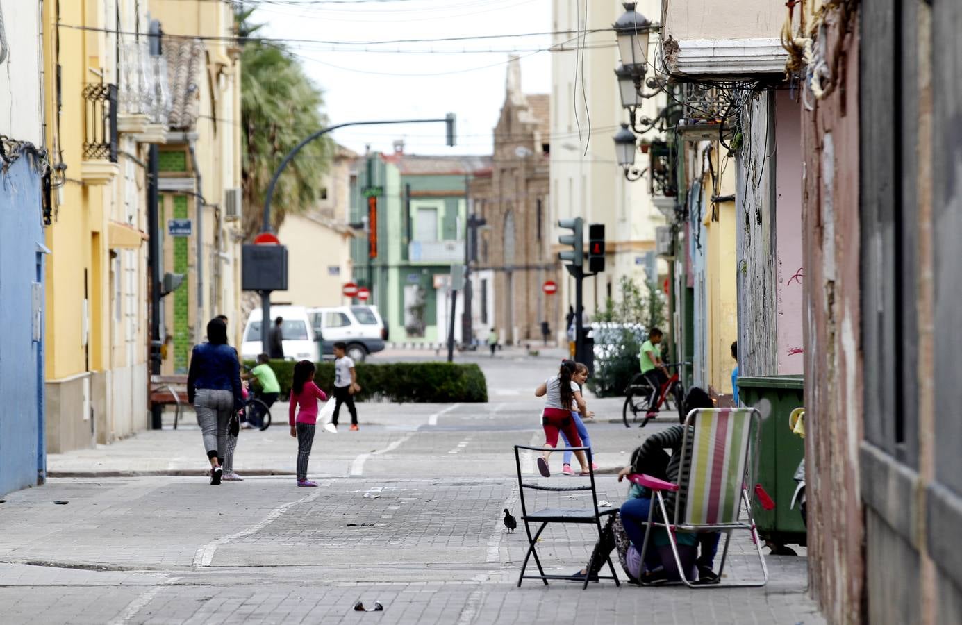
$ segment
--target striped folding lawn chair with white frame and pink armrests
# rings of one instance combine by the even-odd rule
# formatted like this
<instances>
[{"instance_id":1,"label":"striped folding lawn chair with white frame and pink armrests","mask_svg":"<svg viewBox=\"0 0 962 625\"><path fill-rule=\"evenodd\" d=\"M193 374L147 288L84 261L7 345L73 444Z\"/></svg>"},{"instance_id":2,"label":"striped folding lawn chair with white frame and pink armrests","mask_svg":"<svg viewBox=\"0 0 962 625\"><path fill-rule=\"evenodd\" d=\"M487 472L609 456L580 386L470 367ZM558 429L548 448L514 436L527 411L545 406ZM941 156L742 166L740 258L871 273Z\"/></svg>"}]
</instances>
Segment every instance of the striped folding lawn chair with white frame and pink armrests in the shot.
<instances>
[{"instance_id":1,"label":"striped folding lawn chair with white frame and pink armrests","mask_svg":"<svg viewBox=\"0 0 962 625\"><path fill-rule=\"evenodd\" d=\"M655 506L648 512L642 562L652 528L668 530L671 553L681 580L686 586L705 587L758 587L769 581L769 569L765 565L762 544L751 515L748 485L754 479L758 458L758 437L761 431L761 413L754 408L709 408L688 413L685 426L689 428L681 446L681 472L678 484L671 484L647 475L632 475L629 479L642 487L650 488L657 501L663 520L654 519ZM690 462L688 462L690 460ZM662 492L677 491L676 505L671 516L665 508ZM684 502L684 505L682 505ZM679 514L680 512L680 514ZM745 517L743 518L743 514ZM734 530L747 530L758 551L764 579L729 584L695 585L685 574L678 556L677 532L724 532L724 549L719 578L722 578L728 542Z\"/></svg>"}]
</instances>

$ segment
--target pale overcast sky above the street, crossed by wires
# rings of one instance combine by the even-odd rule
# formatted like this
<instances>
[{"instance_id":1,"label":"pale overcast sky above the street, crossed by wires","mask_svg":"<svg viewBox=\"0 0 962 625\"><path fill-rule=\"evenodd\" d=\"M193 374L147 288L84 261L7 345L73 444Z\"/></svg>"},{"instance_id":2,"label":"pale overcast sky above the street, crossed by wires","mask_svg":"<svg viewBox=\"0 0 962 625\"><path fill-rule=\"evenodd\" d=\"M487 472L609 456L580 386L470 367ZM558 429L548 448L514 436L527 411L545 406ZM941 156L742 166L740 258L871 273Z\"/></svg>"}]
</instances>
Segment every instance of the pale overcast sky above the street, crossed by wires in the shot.
<instances>
[{"instance_id":1,"label":"pale overcast sky above the street, crossed by wires","mask_svg":"<svg viewBox=\"0 0 962 625\"><path fill-rule=\"evenodd\" d=\"M364 152L368 143L372 150L390 152L393 140L403 138L405 151L412 154L490 154L494 124L504 101L506 50L522 50L518 54L526 92L548 93L551 88L551 53L533 52L548 47L550 36L518 37L550 31L550 0L257 0L256 4L253 19L265 22L261 34L272 38L362 42L514 36L383 45L291 43L291 51L323 89L325 112L333 124L457 114L454 148L444 146L443 124L337 131L335 138L357 152Z\"/></svg>"}]
</instances>

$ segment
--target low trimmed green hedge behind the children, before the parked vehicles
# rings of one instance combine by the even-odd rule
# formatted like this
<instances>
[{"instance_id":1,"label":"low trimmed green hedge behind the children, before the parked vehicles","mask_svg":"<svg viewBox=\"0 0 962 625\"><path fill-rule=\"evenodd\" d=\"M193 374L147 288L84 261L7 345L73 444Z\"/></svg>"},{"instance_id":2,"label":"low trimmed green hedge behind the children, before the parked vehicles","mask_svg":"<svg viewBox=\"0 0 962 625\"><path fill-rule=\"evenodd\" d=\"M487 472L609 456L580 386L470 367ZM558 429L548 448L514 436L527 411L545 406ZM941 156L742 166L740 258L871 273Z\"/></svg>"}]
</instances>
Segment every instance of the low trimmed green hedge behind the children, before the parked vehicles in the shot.
<instances>
[{"instance_id":1,"label":"low trimmed green hedge behind the children, before the parked vehicles","mask_svg":"<svg viewBox=\"0 0 962 625\"><path fill-rule=\"evenodd\" d=\"M253 366L253 362L245 362ZM325 392L334 388L334 362L316 362L314 381ZM270 361L281 398L291 394L294 362ZM488 385L477 364L453 362L388 362L355 365L361 392L358 401L384 400L398 404L487 402Z\"/></svg>"}]
</instances>

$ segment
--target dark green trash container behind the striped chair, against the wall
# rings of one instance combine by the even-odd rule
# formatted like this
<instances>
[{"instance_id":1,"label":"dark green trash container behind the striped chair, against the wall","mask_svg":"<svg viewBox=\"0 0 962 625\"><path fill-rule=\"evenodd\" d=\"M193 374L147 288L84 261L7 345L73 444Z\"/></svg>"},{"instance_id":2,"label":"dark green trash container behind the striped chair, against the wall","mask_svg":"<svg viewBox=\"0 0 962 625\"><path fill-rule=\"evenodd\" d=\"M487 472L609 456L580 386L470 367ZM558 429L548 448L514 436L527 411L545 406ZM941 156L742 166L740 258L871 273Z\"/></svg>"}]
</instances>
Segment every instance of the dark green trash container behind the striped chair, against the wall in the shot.
<instances>
[{"instance_id":1,"label":"dark green trash container behind the striped chair, against the wall","mask_svg":"<svg viewBox=\"0 0 962 625\"><path fill-rule=\"evenodd\" d=\"M788 427L789 414L804 406L804 382L800 375L738 379L739 400L762 414L756 482L775 502L774 510L765 510L752 493L751 512L761 537L778 546L804 545L806 541L801 512L797 505L791 508L792 495L798 486L795 471L805 457L805 441Z\"/></svg>"}]
</instances>

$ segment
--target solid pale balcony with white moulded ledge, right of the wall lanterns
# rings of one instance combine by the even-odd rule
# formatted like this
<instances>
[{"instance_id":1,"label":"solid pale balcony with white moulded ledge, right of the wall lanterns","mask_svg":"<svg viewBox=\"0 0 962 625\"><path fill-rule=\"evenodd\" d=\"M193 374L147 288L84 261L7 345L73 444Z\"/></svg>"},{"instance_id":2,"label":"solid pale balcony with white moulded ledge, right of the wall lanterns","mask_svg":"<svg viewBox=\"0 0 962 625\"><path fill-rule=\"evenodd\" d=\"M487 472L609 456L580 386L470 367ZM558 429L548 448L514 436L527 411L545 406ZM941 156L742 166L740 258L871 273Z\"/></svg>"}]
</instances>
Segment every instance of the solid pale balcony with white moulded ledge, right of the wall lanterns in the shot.
<instances>
[{"instance_id":1,"label":"solid pale balcony with white moulded ledge, right of the wall lanterns","mask_svg":"<svg viewBox=\"0 0 962 625\"><path fill-rule=\"evenodd\" d=\"M661 37L669 72L709 79L784 73L787 11L771 0L666 3Z\"/></svg>"}]
</instances>

